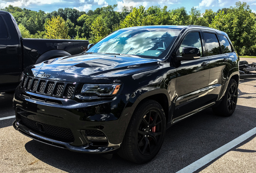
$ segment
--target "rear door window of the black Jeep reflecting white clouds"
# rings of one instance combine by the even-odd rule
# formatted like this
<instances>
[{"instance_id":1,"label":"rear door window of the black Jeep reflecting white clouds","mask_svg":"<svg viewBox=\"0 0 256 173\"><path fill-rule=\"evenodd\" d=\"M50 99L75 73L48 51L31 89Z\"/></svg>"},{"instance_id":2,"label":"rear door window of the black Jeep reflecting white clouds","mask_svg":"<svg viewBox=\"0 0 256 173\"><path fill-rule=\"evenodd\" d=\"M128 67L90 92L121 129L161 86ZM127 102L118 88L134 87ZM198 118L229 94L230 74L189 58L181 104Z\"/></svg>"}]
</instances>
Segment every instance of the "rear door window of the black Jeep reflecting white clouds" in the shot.
<instances>
[{"instance_id":1,"label":"rear door window of the black Jeep reflecting white clouds","mask_svg":"<svg viewBox=\"0 0 256 173\"><path fill-rule=\"evenodd\" d=\"M216 34L203 32L206 56L212 56L221 54L221 49L219 47L219 41Z\"/></svg>"}]
</instances>

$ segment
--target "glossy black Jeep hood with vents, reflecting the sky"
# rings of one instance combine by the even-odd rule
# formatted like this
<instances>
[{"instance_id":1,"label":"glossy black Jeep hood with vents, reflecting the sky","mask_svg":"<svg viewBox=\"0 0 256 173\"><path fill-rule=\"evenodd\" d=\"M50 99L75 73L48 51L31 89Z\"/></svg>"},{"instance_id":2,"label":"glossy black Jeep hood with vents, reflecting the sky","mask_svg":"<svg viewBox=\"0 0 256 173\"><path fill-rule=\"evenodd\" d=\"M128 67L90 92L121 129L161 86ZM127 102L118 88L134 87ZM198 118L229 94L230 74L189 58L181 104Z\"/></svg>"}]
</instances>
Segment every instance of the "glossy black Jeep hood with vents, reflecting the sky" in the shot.
<instances>
[{"instance_id":1,"label":"glossy black Jeep hood with vents, reflecting the sky","mask_svg":"<svg viewBox=\"0 0 256 173\"><path fill-rule=\"evenodd\" d=\"M155 68L159 61L137 56L84 54L47 60L29 66L25 73L67 82L111 83L119 76Z\"/></svg>"}]
</instances>

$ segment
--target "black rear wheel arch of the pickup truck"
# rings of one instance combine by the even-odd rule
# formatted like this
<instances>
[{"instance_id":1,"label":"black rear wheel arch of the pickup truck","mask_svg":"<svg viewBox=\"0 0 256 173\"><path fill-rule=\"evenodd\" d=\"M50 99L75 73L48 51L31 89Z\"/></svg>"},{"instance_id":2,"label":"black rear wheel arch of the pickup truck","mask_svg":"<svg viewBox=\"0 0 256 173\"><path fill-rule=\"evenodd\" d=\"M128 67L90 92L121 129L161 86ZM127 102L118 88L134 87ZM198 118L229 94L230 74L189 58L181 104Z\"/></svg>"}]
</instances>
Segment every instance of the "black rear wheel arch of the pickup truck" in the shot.
<instances>
[{"instance_id":1,"label":"black rear wheel arch of the pickup truck","mask_svg":"<svg viewBox=\"0 0 256 173\"><path fill-rule=\"evenodd\" d=\"M39 56L39 58L36 60L35 64L38 64L48 59L62 57L62 56L70 56L70 55L71 54L66 52L65 50L49 50L41 54L41 56Z\"/></svg>"}]
</instances>

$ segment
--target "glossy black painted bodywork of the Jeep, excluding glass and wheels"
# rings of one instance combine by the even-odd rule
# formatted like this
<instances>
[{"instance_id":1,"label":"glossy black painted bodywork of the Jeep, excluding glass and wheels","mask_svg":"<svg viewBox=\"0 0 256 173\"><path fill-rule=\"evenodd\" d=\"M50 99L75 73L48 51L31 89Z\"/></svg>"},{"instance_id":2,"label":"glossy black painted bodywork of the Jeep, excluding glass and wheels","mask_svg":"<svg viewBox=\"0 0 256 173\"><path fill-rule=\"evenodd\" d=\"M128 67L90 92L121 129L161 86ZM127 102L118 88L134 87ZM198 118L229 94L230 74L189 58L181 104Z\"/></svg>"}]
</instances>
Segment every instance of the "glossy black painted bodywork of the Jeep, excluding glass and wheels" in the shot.
<instances>
[{"instance_id":1,"label":"glossy black painted bodywork of the Jeep, excluding glass and wheels","mask_svg":"<svg viewBox=\"0 0 256 173\"><path fill-rule=\"evenodd\" d=\"M14 128L35 140L57 147L106 153L120 147L134 110L145 99L155 100L163 107L167 127L170 127L221 101L230 78L234 78L238 84L239 56L234 50L228 54L221 52L219 55L206 56L202 31L227 36L224 32L198 26L148 27L180 30L175 44L163 59L85 53L27 67L25 76L49 80L55 85L58 81L71 82L75 84L75 89L70 98L63 95L56 97L24 89L24 82L21 81L14 94ZM136 30L137 27L131 29ZM202 57L196 60L177 60L182 40L186 34L194 31L200 33ZM117 95L100 97L81 93L85 83L119 83L122 86ZM21 117L70 129L74 141L56 140L42 131L28 128ZM107 141L90 141L86 136L87 130L103 133Z\"/></svg>"}]
</instances>

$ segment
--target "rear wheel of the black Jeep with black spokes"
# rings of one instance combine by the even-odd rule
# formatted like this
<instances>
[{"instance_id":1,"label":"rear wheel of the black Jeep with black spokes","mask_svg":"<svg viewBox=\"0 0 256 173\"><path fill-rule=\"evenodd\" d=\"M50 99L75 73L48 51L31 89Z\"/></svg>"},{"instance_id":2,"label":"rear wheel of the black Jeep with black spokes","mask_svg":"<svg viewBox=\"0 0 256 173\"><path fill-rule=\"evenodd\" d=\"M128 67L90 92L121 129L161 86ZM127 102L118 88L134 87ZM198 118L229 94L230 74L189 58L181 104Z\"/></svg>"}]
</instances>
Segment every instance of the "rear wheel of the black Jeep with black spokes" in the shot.
<instances>
[{"instance_id":1,"label":"rear wheel of the black Jeep with black spokes","mask_svg":"<svg viewBox=\"0 0 256 173\"><path fill-rule=\"evenodd\" d=\"M235 111L238 98L237 82L234 79L229 81L227 91L217 107L213 107L213 112L217 115L229 117Z\"/></svg>"}]
</instances>

